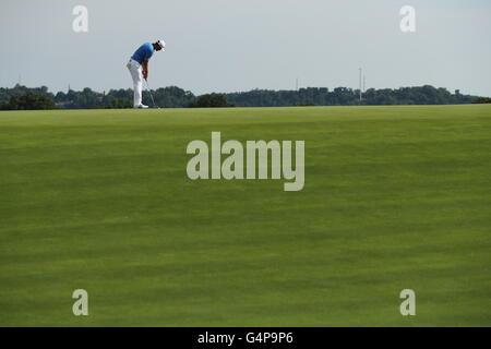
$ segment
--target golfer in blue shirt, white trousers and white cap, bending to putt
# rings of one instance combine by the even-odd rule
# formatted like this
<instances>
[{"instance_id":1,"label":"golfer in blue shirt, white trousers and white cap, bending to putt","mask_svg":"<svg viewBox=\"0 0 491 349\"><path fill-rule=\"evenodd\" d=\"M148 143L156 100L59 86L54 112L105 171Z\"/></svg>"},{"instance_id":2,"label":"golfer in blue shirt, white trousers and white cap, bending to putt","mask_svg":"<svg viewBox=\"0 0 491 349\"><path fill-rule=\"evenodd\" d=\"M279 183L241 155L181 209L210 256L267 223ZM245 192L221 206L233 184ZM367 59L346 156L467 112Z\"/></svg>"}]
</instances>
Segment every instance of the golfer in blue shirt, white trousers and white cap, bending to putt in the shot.
<instances>
[{"instance_id":1,"label":"golfer in blue shirt, white trousers and white cap, bending to putt","mask_svg":"<svg viewBox=\"0 0 491 349\"><path fill-rule=\"evenodd\" d=\"M143 79L146 80L148 77L148 60L155 51L163 50L165 47L166 43L164 43L164 40L158 40L154 44L146 43L140 46L133 56L131 56L127 67L133 79L134 108L148 108L148 106L142 104Z\"/></svg>"}]
</instances>

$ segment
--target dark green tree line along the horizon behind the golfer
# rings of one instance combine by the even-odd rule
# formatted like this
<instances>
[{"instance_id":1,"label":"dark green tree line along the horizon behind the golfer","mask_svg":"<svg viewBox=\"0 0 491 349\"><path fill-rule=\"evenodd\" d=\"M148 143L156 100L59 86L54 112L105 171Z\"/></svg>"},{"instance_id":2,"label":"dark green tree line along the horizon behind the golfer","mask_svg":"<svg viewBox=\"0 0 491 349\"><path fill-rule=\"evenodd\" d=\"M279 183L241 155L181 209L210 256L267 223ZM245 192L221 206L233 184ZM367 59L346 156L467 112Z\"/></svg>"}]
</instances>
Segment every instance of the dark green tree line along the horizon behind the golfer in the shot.
<instances>
[{"instance_id":1,"label":"dark green tree line along the horizon behind the golfer","mask_svg":"<svg viewBox=\"0 0 491 349\"><path fill-rule=\"evenodd\" d=\"M289 106L382 106L382 105L448 105L490 103L488 97L464 95L446 88L433 86L370 88L362 93L348 87L307 87L298 91L253 89L249 92L206 94L195 96L189 91L169 86L152 91L155 104L163 108L206 108L206 107L289 107ZM143 92L144 100L151 100L149 93ZM100 109L131 108L133 91L110 89L98 93L88 87L82 91L69 89L52 94L48 87L29 88L15 85L0 88L0 109Z\"/></svg>"}]
</instances>

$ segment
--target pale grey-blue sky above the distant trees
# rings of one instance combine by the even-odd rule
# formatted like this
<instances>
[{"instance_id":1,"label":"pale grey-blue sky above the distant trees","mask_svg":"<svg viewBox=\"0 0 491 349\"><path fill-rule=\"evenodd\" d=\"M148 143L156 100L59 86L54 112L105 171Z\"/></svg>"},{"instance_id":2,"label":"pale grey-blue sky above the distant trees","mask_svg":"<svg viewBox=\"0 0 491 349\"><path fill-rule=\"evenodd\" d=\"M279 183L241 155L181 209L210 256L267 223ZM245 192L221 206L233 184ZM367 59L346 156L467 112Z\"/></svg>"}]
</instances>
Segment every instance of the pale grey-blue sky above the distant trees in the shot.
<instances>
[{"instance_id":1,"label":"pale grey-blue sky above the distant trees","mask_svg":"<svg viewBox=\"0 0 491 349\"><path fill-rule=\"evenodd\" d=\"M88 33L72 29L77 4ZM414 34L399 29L403 5ZM491 96L490 34L489 0L1 0L0 86L130 88L130 56L163 38L152 88L358 88L361 67L367 88Z\"/></svg>"}]
</instances>

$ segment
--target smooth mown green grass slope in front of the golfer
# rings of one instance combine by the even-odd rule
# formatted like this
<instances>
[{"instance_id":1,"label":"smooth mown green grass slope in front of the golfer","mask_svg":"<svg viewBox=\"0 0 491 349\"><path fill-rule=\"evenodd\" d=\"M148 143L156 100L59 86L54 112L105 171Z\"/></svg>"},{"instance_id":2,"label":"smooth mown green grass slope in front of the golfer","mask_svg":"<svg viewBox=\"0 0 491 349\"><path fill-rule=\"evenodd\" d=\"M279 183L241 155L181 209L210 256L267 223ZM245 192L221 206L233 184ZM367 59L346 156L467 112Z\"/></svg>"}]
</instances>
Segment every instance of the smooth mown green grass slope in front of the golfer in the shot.
<instances>
[{"instance_id":1,"label":"smooth mown green grass slope in front of the golfer","mask_svg":"<svg viewBox=\"0 0 491 349\"><path fill-rule=\"evenodd\" d=\"M212 131L303 191L189 180ZM1 326L491 326L491 106L0 112L0 164Z\"/></svg>"}]
</instances>

